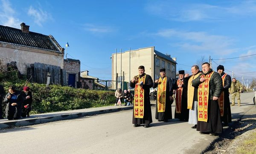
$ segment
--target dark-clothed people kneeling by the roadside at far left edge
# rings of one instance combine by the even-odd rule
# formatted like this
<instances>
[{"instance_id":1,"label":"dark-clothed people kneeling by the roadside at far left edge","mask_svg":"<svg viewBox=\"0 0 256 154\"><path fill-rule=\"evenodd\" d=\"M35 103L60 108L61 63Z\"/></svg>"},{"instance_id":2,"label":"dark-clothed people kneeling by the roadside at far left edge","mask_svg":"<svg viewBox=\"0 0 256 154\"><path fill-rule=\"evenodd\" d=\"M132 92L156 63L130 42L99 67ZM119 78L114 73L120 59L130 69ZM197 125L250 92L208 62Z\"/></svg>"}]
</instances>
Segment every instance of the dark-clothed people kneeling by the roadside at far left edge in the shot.
<instances>
[{"instance_id":1,"label":"dark-clothed people kneeling by the roadside at far left edge","mask_svg":"<svg viewBox=\"0 0 256 154\"><path fill-rule=\"evenodd\" d=\"M16 90L16 87L11 86L5 95L2 85L0 85L0 119L3 119L2 103L6 104L5 116L8 120L15 120L21 117L29 117L32 105L32 92L29 87L23 87L23 91Z\"/></svg>"}]
</instances>

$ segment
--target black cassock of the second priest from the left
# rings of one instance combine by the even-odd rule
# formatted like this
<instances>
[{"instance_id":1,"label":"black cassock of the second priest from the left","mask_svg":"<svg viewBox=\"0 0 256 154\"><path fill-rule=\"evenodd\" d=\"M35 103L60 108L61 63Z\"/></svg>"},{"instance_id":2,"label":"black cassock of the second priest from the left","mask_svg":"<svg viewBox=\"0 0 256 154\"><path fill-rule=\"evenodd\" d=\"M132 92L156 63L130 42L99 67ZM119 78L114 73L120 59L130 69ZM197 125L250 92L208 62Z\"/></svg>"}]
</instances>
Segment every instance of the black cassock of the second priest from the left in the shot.
<instances>
[{"instance_id":1,"label":"black cassock of the second priest from the left","mask_svg":"<svg viewBox=\"0 0 256 154\"><path fill-rule=\"evenodd\" d=\"M153 88L156 88L158 86L158 83L153 84ZM171 101L169 96L172 96L172 91L173 91L173 84L172 84L172 79L167 77L166 79L166 108L164 112L158 112L157 110L157 103L156 103L156 116L155 118L158 120L168 120L172 119L172 103L173 100Z\"/></svg>"}]
</instances>

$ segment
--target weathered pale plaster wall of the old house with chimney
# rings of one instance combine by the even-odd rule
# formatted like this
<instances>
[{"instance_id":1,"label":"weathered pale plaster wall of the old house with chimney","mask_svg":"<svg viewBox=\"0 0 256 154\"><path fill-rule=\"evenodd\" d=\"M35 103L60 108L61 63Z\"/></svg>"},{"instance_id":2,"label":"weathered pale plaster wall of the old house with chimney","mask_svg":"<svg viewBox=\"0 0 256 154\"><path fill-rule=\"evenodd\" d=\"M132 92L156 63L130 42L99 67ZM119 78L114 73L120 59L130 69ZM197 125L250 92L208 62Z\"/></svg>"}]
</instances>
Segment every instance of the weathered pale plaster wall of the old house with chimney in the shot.
<instances>
[{"instance_id":1,"label":"weathered pale plaster wall of the old house with chimney","mask_svg":"<svg viewBox=\"0 0 256 154\"><path fill-rule=\"evenodd\" d=\"M17 62L17 68L21 74L26 74L27 64L35 62L59 66L62 69L64 67L64 54L62 53L2 42L0 42L0 59L3 59L4 65L12 61Z\"/></svg>"}]
</instances>

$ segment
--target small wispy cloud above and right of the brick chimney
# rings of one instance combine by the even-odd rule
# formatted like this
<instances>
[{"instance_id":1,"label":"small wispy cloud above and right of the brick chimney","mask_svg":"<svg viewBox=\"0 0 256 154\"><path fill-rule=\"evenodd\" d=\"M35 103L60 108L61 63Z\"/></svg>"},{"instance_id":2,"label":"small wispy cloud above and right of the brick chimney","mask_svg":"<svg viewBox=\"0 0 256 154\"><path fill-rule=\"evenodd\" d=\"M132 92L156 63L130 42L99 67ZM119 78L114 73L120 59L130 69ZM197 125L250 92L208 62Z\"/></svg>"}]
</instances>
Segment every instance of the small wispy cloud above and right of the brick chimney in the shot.
<instances>
[{"instance_id":1,"label":"small wispy cloud above and right of the brick chimney","mask_svg":"<svg viewBox=\"0 0 256 154\"><path fill-rule=\"evenodd\" d=\"M34 22L42 26L42 23L46 22L47 20L51 20L52 17L47 11L43 11L41 8L35 9L32 6L29 7L27 14L34 18Z\"/></svg>"}]
</instances>

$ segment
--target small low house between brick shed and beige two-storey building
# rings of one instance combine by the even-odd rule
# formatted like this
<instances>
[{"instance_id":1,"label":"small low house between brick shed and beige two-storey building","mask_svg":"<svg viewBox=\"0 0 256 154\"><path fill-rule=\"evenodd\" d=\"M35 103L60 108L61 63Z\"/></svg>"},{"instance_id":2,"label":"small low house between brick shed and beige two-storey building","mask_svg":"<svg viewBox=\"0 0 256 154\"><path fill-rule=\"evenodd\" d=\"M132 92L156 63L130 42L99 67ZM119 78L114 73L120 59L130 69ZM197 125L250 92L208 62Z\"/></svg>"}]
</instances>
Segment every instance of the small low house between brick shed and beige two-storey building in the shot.
<instances>
[{"instance_id":1,"label":"small low house between brick shed and beige two-storey building","mask_svg":"<svg viewBox=\"0 0 256 154\"><path fill-rule=\"evenodd\" d=\"M105 90L106 86L99 83L99 78L89 76L89 71L82 71L79 81L81 83L81 88L90 90Z\"/></svg>"}]
</instances>

